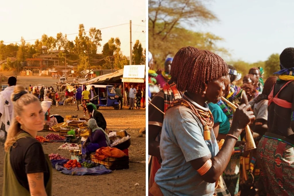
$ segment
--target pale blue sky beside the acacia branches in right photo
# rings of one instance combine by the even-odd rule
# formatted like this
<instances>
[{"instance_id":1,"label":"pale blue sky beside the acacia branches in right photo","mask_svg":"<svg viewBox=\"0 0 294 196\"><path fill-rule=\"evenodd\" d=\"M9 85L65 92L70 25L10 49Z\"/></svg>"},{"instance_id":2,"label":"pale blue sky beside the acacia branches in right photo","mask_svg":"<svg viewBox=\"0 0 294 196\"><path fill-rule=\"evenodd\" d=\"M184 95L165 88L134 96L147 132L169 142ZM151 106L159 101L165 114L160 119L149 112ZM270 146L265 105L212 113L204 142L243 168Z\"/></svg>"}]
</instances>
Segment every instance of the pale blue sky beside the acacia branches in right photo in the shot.
<instances>
[{"instance_id":1,"label":"pale blue sky beside the acacia branches in right photo","mask_svg":"<svg viewBox=\"0 0 294 196\"><path fill-rule=\"evenodd\" d=\"M194 30L223 37L218 46L229 49L233 60L264 61L294 47L294 1L214 0L208 8L220 21Z\"/></svg>"}]
</instances>

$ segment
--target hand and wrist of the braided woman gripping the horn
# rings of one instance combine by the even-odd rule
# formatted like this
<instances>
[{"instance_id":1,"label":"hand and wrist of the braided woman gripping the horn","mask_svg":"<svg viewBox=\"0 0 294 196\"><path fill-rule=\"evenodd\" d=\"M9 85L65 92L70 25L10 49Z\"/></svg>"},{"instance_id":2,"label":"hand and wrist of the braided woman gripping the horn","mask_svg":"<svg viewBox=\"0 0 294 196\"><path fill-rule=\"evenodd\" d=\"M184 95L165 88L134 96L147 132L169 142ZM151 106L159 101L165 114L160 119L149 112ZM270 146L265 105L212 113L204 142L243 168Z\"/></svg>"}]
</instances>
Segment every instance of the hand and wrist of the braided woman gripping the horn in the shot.
<instances>
[{"instance_id":1,"label":"hand and wrist of the braided woman gripping the horn","mask_svg":"<svg viewBox=\"0 0 294 196\"><path fill-rule=\"evenodd\" d=\"M250 121L255 120L253 112L250 110L251 106L241 104L235 111L230 134L239 137L241 132L245 129Z\"/></svg>"}]
</instances>

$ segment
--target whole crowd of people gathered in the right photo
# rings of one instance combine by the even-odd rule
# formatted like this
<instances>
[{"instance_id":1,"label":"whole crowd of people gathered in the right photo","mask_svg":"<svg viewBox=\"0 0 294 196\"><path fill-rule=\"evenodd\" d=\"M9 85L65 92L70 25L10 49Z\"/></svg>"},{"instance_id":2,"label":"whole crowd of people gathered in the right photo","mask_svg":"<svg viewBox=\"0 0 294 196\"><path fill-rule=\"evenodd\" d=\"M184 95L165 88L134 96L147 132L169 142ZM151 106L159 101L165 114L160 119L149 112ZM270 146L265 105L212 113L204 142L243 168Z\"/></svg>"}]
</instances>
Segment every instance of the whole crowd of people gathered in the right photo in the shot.
<instances>
[{"instance_id":1,"label":"whole crowd of people gathered in the right photo","mask_svg":"<svg viewBox=\"0 0 294 196\"><path fill-rule=\"evenodd\" d=\"M149 195L293 195L294 48L276 76L253 67L240 86L210 51L184 47L157 72L148 62Z\"/></svg>"}]
</instances>

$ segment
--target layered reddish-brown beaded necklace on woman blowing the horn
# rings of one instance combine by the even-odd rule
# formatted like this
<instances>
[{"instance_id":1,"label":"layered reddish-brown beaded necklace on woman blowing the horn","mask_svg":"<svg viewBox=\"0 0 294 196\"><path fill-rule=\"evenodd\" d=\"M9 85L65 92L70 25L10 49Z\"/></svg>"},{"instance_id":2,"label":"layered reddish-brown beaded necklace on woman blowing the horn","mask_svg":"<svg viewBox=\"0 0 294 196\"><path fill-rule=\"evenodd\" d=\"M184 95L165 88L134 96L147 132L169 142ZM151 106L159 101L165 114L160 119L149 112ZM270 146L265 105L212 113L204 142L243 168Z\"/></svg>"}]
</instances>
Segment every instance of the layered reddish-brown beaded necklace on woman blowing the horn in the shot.
<instances>
[{"instance_id":1,"label":"layered reddish-brown beaded necklace on woman blowing the horn","mask_svg":"<svg viewBox=\"0 0 294 196\"><path fill-rule=\"evenodd\" d=\"M176 99L175 101L171 102L171 104L168 106L167 109L177 106L177 105L183 105L185 107L188 107L191 109L195 114L196 117L200 120L203 129L204 129L204 139L205 140L210 140L210 130L213 127L213 116L211 114L211 111L208 110L208 112L205 112L201 109L197 109L193 104L191 104L189 101L186 99Z\"/></svg>"}]
</instances>

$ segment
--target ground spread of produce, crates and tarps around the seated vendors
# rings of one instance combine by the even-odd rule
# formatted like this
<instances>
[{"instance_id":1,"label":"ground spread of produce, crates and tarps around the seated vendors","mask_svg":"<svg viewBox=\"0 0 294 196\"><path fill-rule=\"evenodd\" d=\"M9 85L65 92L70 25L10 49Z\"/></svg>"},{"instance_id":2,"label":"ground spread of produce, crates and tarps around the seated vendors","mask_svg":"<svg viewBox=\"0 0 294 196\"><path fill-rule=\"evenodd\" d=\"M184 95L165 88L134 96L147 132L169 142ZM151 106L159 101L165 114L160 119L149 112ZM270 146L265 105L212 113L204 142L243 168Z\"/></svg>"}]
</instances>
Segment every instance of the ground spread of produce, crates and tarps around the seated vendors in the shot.
<instances>
[{"instance_id":1,"label":"ground spread of produce, crates and tarps around the seated vendors","mask_svg":"<svg viewBox=\"0 0 294 196\"><path fill-rule=\"evenodd\" d=\"M47 106L48 107L48 106ZM56 114L55 116L57 116ZM60 122L61 118L59 119ZM51 153L52 167L67 175L101 175L129 168L128 147L131 137L126 130L107 131L110 140L108 147L101 147L93 152L90 159L85 160L81 154L81 142L89 137L87 119L77 115L68 115L64 122L54 125L46 137L37 136L39 142L62 142L59 150L68 150L71 159Z\"/></svg>"}]
</instances>

